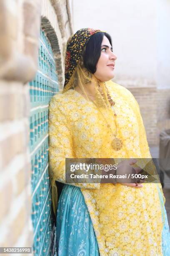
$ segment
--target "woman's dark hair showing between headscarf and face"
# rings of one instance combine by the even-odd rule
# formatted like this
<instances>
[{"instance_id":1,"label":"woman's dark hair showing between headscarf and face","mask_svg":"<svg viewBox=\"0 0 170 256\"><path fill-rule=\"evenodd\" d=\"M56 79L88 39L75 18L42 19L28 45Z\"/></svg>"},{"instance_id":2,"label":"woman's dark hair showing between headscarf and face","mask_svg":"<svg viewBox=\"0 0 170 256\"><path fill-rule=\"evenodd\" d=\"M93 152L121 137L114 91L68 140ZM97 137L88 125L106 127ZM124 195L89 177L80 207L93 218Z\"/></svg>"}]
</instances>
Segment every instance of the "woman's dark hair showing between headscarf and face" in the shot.
<instances>
[{"instance_id":1,"label":"woman's dark hair showing between headscarf and face","mask_svg":"<svg viewBox=\"0 0 170 256\"><path fill-rule=\"evenodd\" d=\"M106 32L97 32L90 37L82 54L84 66L92 74L96 72L96 65L100 58L101 44L104 36L107 37L112 46L112 38L109 34Z\"/></svg>"}]
</instances>

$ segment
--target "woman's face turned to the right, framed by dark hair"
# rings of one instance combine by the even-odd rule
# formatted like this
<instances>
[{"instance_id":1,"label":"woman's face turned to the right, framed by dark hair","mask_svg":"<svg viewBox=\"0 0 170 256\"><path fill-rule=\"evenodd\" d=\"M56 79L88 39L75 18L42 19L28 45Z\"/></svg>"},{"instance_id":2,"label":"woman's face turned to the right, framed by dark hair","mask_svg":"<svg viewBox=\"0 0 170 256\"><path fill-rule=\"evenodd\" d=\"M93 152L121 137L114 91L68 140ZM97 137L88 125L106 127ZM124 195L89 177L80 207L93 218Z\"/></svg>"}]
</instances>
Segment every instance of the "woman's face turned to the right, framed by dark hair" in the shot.
<instances>
[{"instance_id":1,"label":"woman's face turned to the right, framed by dark hair","mask_svg":"<svg viewBox=\"0 0 170 256\"><path fill-rule=\"evenodd\" d=\"M101 55L97 62L95 77L102 82L109 81L114 77L114 66L117 57L112 52L112 46L106 36L103 36Z\"/></svg>"}]
</instances>

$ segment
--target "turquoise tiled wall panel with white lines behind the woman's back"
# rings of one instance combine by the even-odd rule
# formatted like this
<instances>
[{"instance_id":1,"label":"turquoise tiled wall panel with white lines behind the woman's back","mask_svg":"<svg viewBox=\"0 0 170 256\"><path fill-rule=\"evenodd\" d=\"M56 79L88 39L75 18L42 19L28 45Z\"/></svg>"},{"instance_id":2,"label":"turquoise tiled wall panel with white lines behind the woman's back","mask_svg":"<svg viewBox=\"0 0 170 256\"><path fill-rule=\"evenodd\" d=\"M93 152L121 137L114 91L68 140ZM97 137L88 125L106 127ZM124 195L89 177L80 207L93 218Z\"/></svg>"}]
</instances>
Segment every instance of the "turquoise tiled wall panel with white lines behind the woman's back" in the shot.
<instances>
[{"instance_id":1,"label":"turquoise tiled wall panel with white lines behind the woman's back","mask_svg":"<svg viewBox=\"0 0 170 256\"><path fill-rule=\"evenodd\" d=\"M53 255L55 226L48 176L48 105L59 90L50 42L40 31L38 70L30 82L30 156L32 187L33 253Z\"/></svg>"}]
</instances>

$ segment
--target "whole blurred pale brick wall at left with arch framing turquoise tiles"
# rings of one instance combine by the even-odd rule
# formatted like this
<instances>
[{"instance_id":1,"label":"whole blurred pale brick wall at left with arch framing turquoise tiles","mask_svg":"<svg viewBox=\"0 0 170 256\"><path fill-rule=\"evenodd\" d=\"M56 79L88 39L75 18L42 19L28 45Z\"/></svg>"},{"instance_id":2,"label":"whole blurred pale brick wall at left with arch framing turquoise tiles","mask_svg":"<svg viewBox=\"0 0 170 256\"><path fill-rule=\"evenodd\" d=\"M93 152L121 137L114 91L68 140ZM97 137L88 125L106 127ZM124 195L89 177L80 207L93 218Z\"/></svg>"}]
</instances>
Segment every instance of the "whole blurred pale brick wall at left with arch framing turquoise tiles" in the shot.
<instances>
[{"instance_id":1,"label":"whole blurred pale brick wall at left with arch framing turquoise tiles","mask_svg":"<svg viewBox=\"0 0 170 256\"><path fill-rule=\"evenodd\" d=\"M42 26L52 28L62 87L69 13L65 0L0 1L0 246L32 246L28 82L37 70L42 16Z\"/></svg>"}]
</instances>

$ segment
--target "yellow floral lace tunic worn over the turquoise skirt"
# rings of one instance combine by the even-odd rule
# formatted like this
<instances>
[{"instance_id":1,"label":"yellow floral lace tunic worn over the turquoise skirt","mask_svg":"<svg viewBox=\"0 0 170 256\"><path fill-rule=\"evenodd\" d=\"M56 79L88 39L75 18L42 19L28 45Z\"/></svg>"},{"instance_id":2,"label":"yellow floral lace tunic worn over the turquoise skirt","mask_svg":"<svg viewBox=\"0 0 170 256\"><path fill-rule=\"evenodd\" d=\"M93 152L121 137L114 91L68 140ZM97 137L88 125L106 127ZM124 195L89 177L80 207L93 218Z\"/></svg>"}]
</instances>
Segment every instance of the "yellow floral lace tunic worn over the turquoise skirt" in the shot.
<instances>
[{"instance_id":1,"label":"yellow floral lace tunic worn over the turquoise skirt","mask_svg":"<svg viewBox=\"0 0 170 256\"><path fill-rule=\"evenodd\" d=\"M93 102L75 90L57 94L50 101L49 173L55 211L55 180L65 183L65 158L151 158L135 98L112 81L107 88L115 101L117 137L123 141L119 151L110 146L107 123L101 122ZM122 184L73 185L81 188L85 198L101 256L163 255L160 184L143 184L138 189Z\"/></svg>"}]
</instances>

